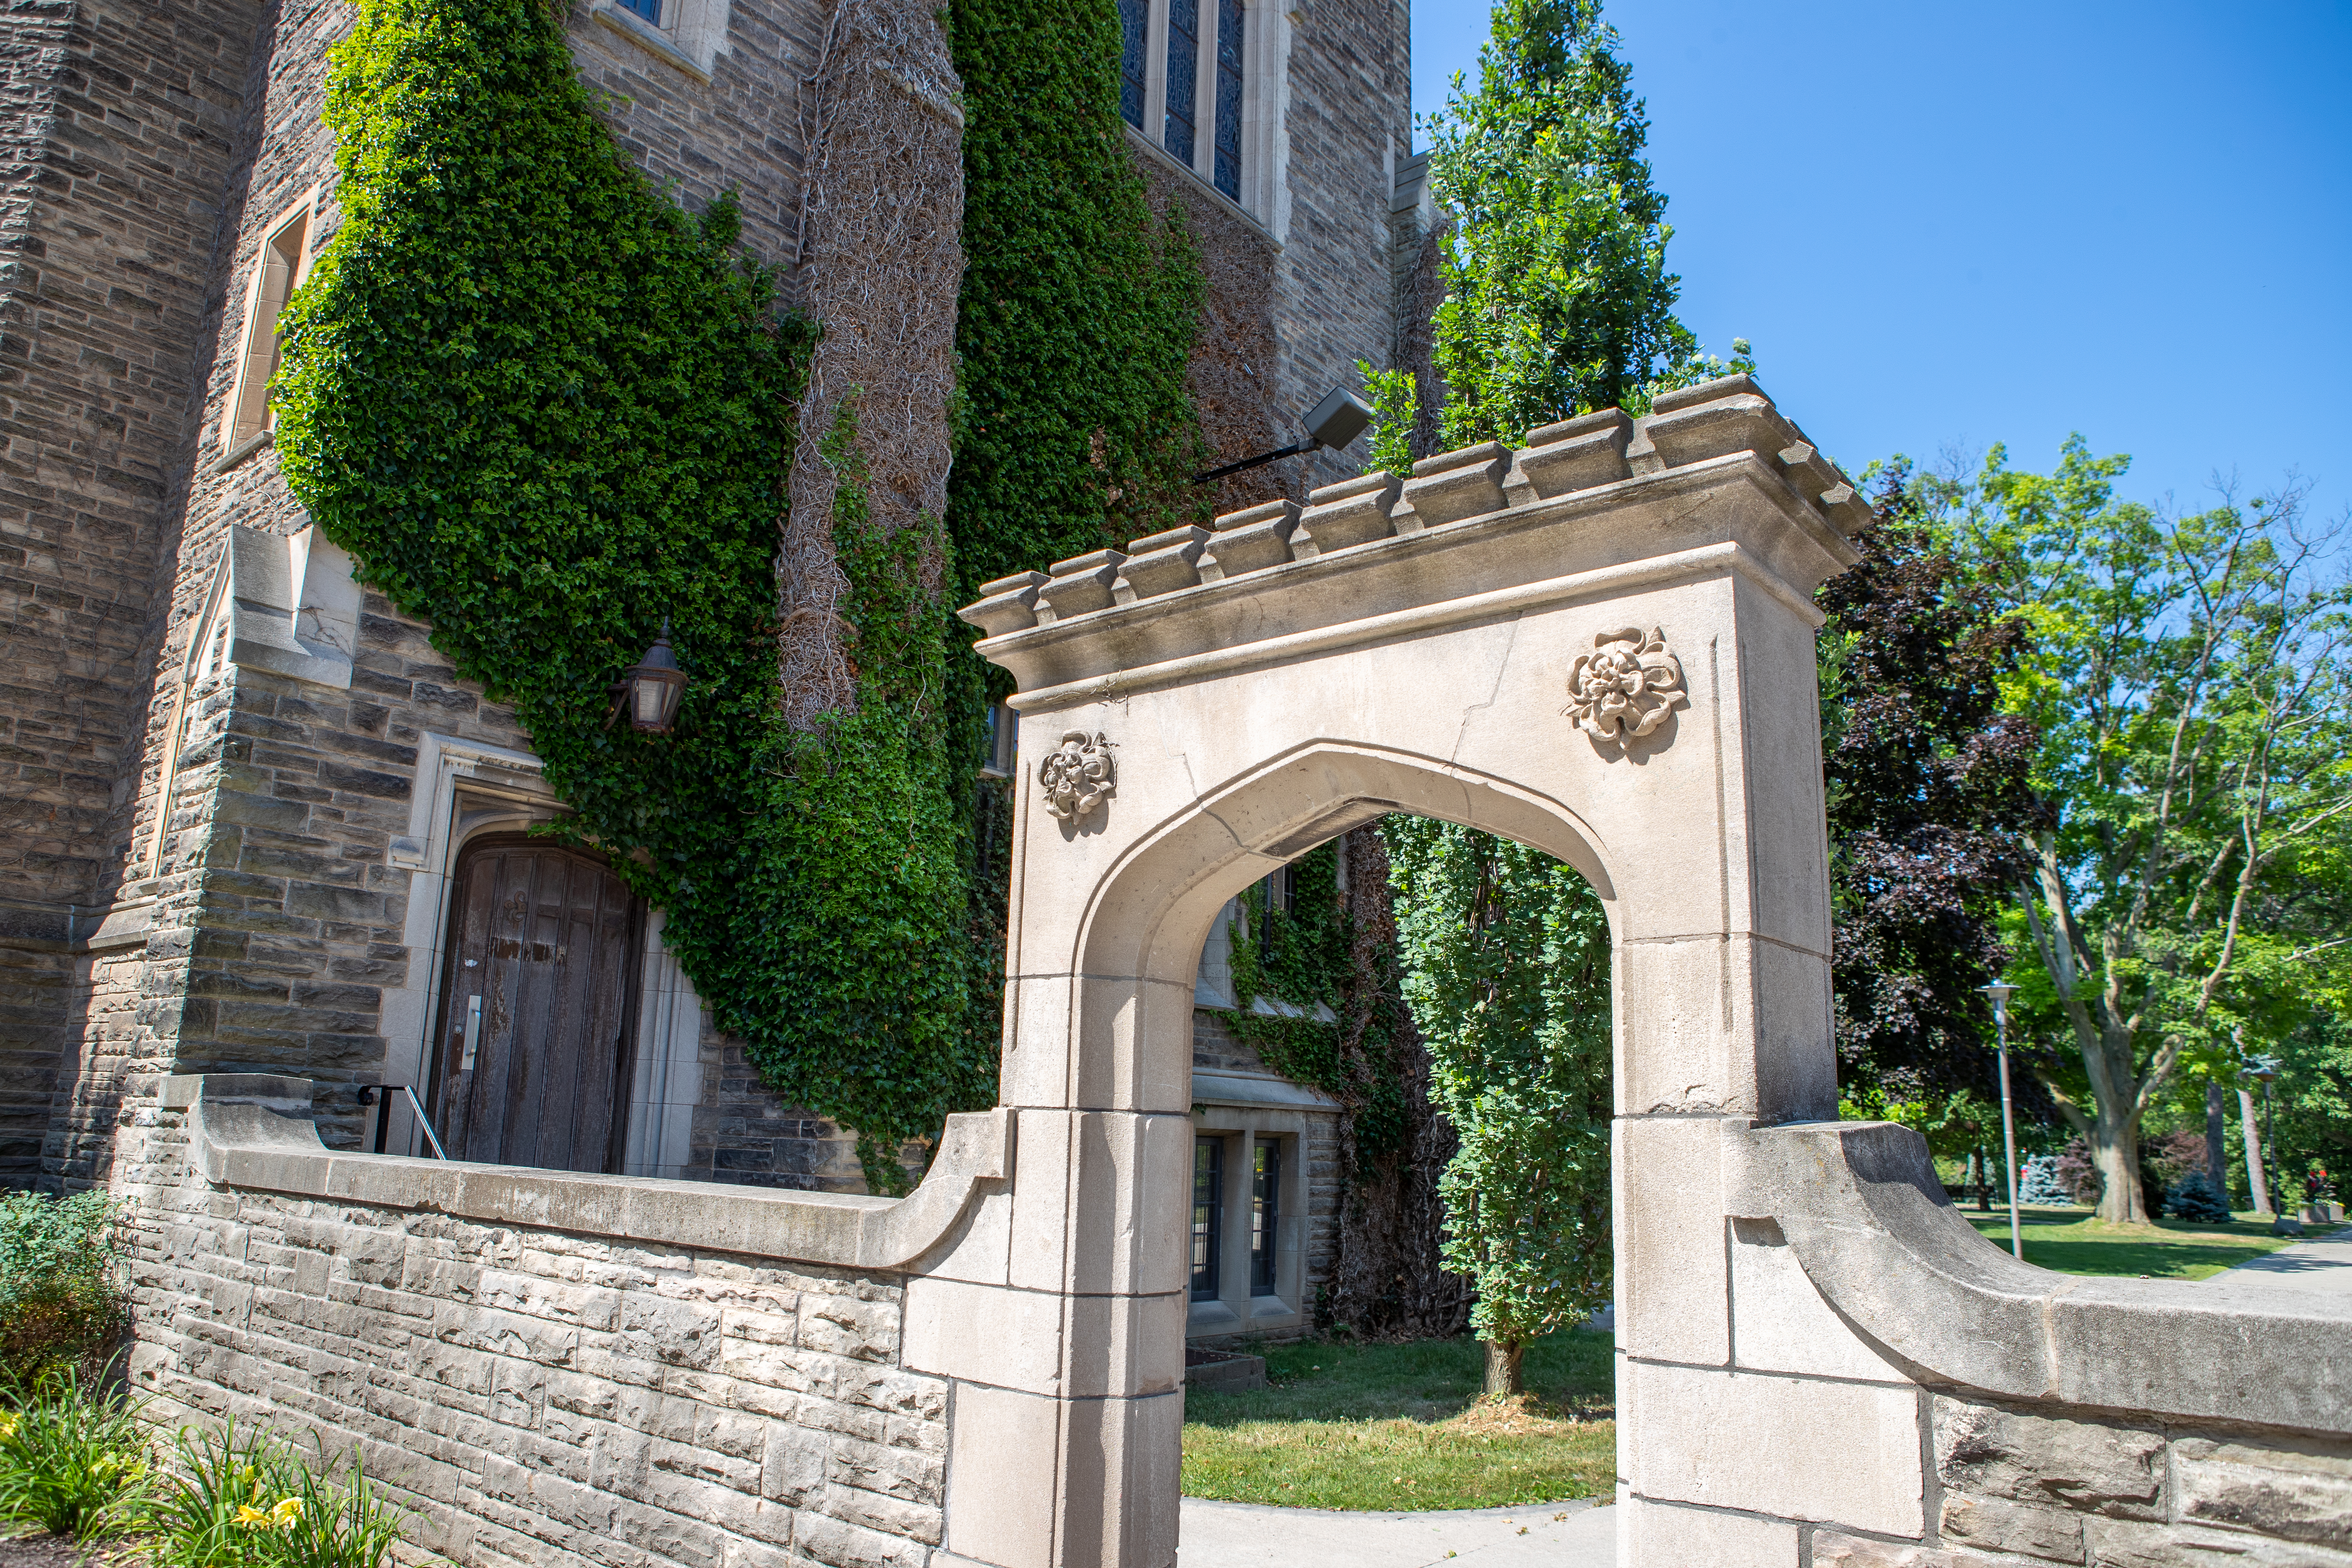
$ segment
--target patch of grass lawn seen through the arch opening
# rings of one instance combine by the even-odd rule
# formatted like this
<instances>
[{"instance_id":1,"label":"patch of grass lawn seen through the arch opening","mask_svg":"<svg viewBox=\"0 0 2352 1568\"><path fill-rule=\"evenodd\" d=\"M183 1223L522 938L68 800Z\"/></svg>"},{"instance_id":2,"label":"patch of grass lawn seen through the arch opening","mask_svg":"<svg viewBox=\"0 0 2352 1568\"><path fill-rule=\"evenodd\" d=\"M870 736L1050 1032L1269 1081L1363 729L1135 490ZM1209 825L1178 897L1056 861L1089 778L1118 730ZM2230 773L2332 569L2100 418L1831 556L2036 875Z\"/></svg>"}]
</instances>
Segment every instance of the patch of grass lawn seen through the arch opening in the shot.
<instances>
[{"instance_id":1,"label":"patch of grass lawn seen through the arch opening","mask_svg":"<svg viewBox=\"0 0 2352 1568\"><path fill-rule=\"evenodd\" d=\"M1484 1509L1616 1486L1616 1340L1526 1349L1524 1408L1479 1406L1477 1340L1279 1345L1272 1387L1185 1394L1188 1497L1308 1509Z\"/></svg>"}]
</instances>

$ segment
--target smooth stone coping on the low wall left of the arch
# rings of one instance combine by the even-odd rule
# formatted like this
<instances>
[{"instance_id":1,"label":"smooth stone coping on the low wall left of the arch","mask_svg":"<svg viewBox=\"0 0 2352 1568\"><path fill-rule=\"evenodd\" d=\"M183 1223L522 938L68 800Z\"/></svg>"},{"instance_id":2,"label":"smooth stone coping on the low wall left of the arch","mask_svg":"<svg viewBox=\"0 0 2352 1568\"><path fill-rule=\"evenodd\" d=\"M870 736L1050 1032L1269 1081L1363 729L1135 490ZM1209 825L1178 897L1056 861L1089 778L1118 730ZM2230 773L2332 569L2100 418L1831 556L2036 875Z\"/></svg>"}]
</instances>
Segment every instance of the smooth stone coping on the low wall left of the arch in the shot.
<instances>
[{"instance_id":1,"label":"smooth stone coping on the low wall left of the arch","mask_svg":"<svg viewBox=\"0 0 2352 1568\"><path fill-rule=\"evenodd\" d=\"M223 1187L844 1269L908 1267L948 1239L983 1182L1011 1178L1014 1159L1014 1114L1004 1107L948 1117L922 1185L882 1199L346 1154L320 1143L310 1079L266 1072L167 1077L158 1103L188 1112L191 1164Z\"/></svg>"}]
</instances>

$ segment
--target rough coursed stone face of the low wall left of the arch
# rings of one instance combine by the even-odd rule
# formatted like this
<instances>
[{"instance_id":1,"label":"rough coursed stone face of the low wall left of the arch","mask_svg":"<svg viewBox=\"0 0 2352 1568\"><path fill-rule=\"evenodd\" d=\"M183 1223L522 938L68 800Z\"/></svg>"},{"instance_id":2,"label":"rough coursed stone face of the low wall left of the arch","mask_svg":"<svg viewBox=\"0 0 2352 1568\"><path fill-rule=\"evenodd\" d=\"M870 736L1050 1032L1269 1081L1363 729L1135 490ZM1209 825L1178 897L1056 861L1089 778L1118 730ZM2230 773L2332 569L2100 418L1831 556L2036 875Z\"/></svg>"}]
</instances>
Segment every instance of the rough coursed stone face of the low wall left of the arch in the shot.
<instances>
[{"instance_id":1,"label":"rough coursed stone face of the low wall left of the arch","mask_svg":"<svg viewBox=\"0 0 2352 1568\"><path fill-rule=\"evenodd\" d=\"M920 1568L938 1542L948 1385L898 1366L901 1274L600 1234L586 1204L212 1185L188 1135L151 1112L122 1182L132 1380L165 1418L358 1446L416 1544L473 1568Z\"/></svg>"}]
</instances>

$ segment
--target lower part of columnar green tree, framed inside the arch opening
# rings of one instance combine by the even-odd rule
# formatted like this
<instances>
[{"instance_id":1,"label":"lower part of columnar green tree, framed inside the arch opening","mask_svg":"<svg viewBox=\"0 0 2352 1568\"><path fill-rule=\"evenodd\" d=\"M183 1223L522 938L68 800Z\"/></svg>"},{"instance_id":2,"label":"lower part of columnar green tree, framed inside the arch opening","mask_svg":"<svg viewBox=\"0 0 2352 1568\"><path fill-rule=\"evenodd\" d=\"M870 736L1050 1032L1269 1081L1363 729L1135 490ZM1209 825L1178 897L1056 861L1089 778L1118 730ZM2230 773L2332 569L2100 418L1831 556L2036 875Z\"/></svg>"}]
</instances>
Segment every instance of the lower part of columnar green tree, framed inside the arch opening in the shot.
<instances>
[{"instance_id":1,"label":"lower part of columnar green tree, framed inside the arch opening","mask_svg":"<svg viewBox=\"0 0 2352 1568\"><path fill-rule=\"evenodd\" d=\"M1404 1001L1461 1135L1442 1258L1477 1281L1486 1392L1609 1300L1609 917L1573 870L1428 818L1383 823Z\"/></svg>"}]
</instances>

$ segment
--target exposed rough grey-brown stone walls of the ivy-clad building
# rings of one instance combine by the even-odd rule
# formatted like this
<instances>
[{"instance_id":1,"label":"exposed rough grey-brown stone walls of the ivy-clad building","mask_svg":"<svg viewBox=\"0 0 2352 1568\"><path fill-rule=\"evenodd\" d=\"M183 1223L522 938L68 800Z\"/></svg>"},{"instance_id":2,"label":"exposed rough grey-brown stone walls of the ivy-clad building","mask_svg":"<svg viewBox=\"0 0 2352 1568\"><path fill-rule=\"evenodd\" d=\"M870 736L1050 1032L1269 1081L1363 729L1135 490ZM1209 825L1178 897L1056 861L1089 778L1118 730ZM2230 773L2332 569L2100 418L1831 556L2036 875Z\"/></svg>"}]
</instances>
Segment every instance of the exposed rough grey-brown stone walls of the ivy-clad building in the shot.
<instances>
[{"instance_id":1,"label":"exposed rough grey-brown stone walls of the ivy-clad building","mask_svg":"<svg viewBox=\"0 0 2352 1568\"><path fill-rule=\"evenodd\" d=\"M849 0L835 0L847 5ZM736 190L743 242L788 277L804 237L804 94L826 0L666 0L656 26L583 0L567 35L600 113L689 207ZM1136 9L1155 120L1129 146L1181 200L1209 301L1192 364L1221 461L1298 440L1355 362L1411 322L1399 282L1409 16L1392 0ZM513 712L456 677L430 628L353 581L287 491L266 428L263 322L339 223L325 56L343 0L289 7L59 0L7 24L0 155L0 1180L113 1178L122 1126L174 1072L315 1081L343 1147L367 1084L433 1100L463 1039L454 905L485 846L564 811ZM1183 52L1247 38L1221 118L1171 153ZM1131 120L1141 120L1131 118ZM1216 136L1230 132L1218 165ZM1235 162L1237 160L1237 162ZM1230 190L1228 190L1230 186ZM1402 247L1402 252L1399 252ZM1399 270L1402 268L1402 270ZM254 355L261 355L256 360ZM256 371L259 364L259 371ZM1218 484L1216 510L1305 498L1352 454ZM635 912L626 1081L604 1168L858 1190L854 1140L779 1105ZM1214 964L1211 964L1214 969ZM1204 971L1204 1006L1218 1004ZM1202 1025L1204 1135L1235 1171L1282 1150L1282 1312L1308 1319L1334 1244L1334 1107ZM390 1150L426 1152L405 1095ZM1235 1199L1240 1213L1242 1199ZM1240 1302L1242 1316L1254 1307ZM1207 1314L1216 1319L1216 1312ZM1202 1333L1235 1331L1204 1321Z\"/></svg>"}]
</instances>

